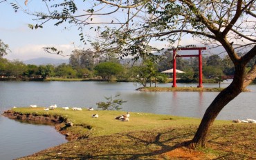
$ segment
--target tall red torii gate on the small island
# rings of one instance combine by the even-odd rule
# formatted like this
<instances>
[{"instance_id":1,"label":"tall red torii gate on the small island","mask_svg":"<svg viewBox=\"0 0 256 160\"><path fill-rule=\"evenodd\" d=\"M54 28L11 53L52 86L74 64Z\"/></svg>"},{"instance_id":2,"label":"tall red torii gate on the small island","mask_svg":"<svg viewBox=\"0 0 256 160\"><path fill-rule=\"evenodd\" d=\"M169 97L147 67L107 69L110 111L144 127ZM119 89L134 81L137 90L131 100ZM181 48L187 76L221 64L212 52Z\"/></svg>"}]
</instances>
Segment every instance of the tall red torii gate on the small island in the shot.
<instances>
[{"instance_id":1,"label":"tall red torii gate on the small island","mask_svg":"<svg viewBox=\"0 0 256 160\"><path fill-rule=\"evenodd\" d=\"M199 54L192 55L179 55L176 50L199 50ZM176 87L176 57L199 57L199 86L198 88L203 88L203 73L202 73L202 53L201 50L206 50L205 47L201 48L177 48L173 49L173 74L172 74L172 87Z\"/></svg>"}]
</instances>

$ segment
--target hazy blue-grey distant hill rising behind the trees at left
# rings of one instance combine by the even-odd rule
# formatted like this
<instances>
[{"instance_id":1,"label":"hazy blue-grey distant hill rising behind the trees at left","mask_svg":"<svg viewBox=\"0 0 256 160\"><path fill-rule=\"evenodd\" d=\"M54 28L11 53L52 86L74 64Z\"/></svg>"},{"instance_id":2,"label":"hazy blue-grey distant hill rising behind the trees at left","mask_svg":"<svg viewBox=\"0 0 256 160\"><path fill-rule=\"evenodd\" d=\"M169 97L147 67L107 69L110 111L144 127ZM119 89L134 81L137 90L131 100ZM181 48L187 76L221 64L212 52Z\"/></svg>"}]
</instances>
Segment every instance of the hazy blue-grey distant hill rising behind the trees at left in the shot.
<instances>
[{"instance_id":1,"label":"hazy blue-grey distant hill rising behind the trees at left","mask_svg":"<svg viewBox=\"0 0 256 160\"><path fill-rule=\"evenodd\" d=\"M58 66L62 63L68 64L68 59L51 59L51 58L37 58L37 59L28 59L24 61L25 64L35 64L35 65L47 65L52 64Z\"/></svg>"}]
</instances>

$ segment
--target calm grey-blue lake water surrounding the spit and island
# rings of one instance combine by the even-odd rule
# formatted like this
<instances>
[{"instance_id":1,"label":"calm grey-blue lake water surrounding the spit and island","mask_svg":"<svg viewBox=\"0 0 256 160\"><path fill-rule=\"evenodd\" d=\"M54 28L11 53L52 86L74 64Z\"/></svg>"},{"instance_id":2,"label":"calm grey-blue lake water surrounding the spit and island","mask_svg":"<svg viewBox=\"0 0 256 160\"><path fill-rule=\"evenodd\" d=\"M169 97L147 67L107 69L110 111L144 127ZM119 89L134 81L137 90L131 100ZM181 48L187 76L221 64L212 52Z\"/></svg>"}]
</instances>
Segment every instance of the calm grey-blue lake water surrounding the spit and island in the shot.
<instances>
[{"instance_id":1,"label":"calm grey-blue lake water surrounding the spit and island","mask_svg":"<svg viewBox=\"0 0 256 160\"><path fill-rule=\"evenodd\" d=\"M228 86L232 80L221 83ZM172 86L172 83L157 86ZM177 83L177 86L197 86L197 83ZM204 87L219 84L203 83ZM82 107L97 108L104 97L120 94L126 100L121 107L130 112L152 112L183 117L203 117L203 113L218 92L139 92L134 83L108 82L26 82L0 81L0 112L13 106ZM256 119L256 85L248 86L252 92L242 92L228 103L217 119ZM65 143L65 137L53 126L33 125L0 116L0 159L15 159L39 150Z\"/></svg>"}]
</instances>

